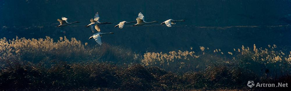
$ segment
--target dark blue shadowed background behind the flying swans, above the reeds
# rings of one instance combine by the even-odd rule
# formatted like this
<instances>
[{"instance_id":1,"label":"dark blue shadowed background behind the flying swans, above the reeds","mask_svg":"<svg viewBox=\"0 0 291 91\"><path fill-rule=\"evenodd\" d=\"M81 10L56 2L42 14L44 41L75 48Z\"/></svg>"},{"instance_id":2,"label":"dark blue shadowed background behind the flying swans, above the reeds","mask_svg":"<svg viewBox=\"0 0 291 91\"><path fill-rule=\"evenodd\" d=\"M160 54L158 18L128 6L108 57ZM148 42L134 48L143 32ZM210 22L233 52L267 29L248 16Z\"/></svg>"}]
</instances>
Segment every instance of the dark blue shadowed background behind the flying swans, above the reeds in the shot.
<instances>
[{"instance_id":1,"label":"dark blue shadowed background behind the flying swans, above the reeds","mask_svg":"<svg viewBox=\"0 0 291 91\"><path fill-rule=\"evenodd\" d=\"M84 26L99 12L101 32L114 32L102 37L103 43L130 48L135 52L168 52L199 50L199 46L223 51L242 45L267 47L290 45L290 0L1 0L0 38L18 37L54 39L76 37L83 43L93 35ZM114 28L121 21L135 21L142 12L145 21L159 21L148 26ZM80 21L56 28L56 19ZM168 28L160 23L180 20ZM95 32L96 33L96 32Z\"/></svg>"}]
</instances>

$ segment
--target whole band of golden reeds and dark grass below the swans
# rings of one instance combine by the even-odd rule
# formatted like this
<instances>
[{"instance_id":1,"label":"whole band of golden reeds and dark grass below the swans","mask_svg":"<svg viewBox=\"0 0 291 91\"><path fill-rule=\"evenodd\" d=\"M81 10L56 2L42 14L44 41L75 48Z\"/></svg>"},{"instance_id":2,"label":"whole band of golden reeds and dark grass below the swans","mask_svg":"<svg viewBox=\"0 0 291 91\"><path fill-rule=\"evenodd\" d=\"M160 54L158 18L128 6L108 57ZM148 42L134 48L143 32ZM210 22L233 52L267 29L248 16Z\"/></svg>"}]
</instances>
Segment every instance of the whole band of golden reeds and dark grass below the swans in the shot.
<instances>
[{"instance_id":1,"label":"whole band of golden reeds and dark grass below the swans","mask_svg":"<svg viewBox=\"0 0 291 91\"><path fill-rule=\"evenodd\" d=\"M118 46L90 47L74 38L0 42L0 90L284 90L289 87L246 85L291 83L291 54L276 45L140 56Z\"/></svg>"}]
</instances>

